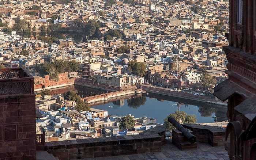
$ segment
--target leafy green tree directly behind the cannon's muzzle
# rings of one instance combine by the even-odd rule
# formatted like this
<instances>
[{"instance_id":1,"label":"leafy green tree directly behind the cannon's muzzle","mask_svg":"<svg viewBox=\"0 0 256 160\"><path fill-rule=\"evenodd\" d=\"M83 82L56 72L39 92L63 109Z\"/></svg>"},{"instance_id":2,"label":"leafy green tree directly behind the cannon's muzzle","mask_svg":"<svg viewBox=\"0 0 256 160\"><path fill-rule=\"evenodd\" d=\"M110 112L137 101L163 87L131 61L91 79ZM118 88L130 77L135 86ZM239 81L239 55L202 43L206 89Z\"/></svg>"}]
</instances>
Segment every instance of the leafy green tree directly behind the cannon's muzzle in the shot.
<instances>
[{"instance_id":1,"label":"leafy green tree directly behind the cannon's muzzle","mask_svg":"<svg viewBox=\"0 0 256 160\"><path fill-rule=\"evenodd\" d=\"M196 115L187 114L184 111L175 111L171 113L167 118L163 119L163 125L165 125L166 130L175 129L175 127L168 121L168 118L172 116L176 121L182 120L182 123L196 123Z\"/></svg>"}]
</instances>

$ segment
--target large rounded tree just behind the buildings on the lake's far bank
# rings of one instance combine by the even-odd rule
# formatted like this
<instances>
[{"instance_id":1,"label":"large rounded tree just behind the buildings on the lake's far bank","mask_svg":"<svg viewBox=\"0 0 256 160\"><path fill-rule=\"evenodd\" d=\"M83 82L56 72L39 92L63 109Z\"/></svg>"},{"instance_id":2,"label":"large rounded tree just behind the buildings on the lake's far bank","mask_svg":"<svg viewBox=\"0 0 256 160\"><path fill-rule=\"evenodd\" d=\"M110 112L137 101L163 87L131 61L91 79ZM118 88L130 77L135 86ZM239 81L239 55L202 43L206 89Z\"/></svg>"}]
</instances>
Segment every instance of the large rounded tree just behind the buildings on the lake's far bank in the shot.
<instances>
[{"instance_id":1,"label":"large rounded tree just behind the buildings on the lake's far bank","mask_svg":"<svg viewBox=\"0 0 256 160\"><path fill-rule=\"evenodd\" d=\"M131 74L143 77L146 70L146 65L137 61L128 62L128 70Z\"/></svg>"}]
</instances>

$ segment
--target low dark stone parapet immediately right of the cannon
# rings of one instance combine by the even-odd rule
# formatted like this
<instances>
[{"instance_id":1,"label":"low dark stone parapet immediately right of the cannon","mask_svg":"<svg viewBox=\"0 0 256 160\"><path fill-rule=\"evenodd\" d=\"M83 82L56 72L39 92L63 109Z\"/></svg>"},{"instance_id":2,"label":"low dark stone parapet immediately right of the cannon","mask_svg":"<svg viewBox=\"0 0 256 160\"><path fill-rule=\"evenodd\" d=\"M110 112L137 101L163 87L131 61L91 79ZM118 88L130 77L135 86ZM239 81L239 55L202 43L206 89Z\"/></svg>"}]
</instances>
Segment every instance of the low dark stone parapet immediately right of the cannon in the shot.
<instances>
[{"instance_id":1,"label":"low dark stone parapet immediately right of the cannon","mask_svg":"<svg viewBox=\"0 0 256 160\"><path fill-rule=\"evenodd\" d=\"M213 147L225 145L225 129L217 126L182 124L196 136L197 142L208 143Z\"/></svg>"}]
</instances>

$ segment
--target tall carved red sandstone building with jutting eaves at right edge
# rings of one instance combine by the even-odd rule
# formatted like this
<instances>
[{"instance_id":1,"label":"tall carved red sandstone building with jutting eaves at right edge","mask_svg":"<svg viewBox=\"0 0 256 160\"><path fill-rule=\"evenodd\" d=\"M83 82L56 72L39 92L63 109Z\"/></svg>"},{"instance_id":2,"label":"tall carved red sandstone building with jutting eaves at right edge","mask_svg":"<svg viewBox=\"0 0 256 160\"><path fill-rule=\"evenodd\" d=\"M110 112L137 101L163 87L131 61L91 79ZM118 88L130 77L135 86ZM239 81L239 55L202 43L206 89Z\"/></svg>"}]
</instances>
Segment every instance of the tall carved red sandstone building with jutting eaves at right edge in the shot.
<instances>
[{"instance_id":1,"label":"tall carved red sandstone building with jutting eaves at right edge","mask_svg":"<svg viewBox=\"0 0 256 160\"><path fill-rule=\"evenodd\" d=\"M230 1L229 46L224 46L229 79L214 88L229 100L226 150L230 160L256 159L256 1Z\"/></svg>"}]
</instances>

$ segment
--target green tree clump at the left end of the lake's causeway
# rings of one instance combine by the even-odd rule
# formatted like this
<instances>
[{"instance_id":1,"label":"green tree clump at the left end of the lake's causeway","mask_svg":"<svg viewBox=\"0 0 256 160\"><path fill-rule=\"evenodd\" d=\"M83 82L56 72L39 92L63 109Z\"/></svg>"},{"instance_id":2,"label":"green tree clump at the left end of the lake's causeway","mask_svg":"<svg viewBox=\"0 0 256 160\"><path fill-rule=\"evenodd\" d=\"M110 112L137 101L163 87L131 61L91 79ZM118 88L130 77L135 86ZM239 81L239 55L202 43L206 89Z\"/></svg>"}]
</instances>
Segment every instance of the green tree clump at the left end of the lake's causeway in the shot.
<instances>
[{"instance_id":1,"label":"green tree clump at the left end of the lake's causeway","mask_svg":"<svg viewBox=\"0 0 256 160\"><path fill-rule=\"evenodd\" d=\"M90 111L90 106L84 103L81 97L77 95L75 92L68 91L68 92L65 92L63 95L64 95L64 99L72 100L76 102L76 110L78 112Z\"/></svg>"}]
</instances>

